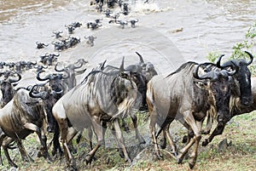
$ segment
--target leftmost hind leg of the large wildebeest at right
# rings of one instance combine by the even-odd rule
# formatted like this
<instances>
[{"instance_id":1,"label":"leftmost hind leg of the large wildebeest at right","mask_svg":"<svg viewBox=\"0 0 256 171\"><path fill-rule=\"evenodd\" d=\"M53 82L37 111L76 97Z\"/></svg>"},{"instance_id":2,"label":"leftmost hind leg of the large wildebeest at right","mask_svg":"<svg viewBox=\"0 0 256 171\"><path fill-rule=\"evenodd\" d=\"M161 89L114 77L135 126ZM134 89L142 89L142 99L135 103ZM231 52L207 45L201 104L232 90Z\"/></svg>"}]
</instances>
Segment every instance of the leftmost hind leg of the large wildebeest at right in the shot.
<instances>
[{"instance_id":1,"label":"leftmost hind leg of the large wildebeest at right","mask_svg":"<svg viewBox=\"0 0 256 171\"><path fill-rule=\"evenodd\" d=\"M151 133L153 144L154 144L155 154L156 154L157 157L160 158L161 155L160 155L159 147L157 145L157 139L156 139L156 136L155 136L155 123L156 123L156 119L157 119L157 114L156 114L155 107L153 107L153 109L149 108L148 111L150 113L149 128L150 128L150 133Z\"/></svg>"}]
</instances>

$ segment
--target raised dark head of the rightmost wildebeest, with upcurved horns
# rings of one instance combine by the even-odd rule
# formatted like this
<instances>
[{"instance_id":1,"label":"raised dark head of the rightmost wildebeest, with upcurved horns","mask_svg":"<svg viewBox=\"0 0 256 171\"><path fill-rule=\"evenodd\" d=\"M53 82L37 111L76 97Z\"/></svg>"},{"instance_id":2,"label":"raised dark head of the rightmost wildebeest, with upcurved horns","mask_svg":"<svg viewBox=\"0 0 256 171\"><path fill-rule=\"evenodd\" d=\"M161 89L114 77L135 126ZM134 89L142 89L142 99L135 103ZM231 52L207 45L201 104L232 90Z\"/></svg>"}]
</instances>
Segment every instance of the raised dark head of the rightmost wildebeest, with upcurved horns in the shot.
<instances>
[{"instance_id":1,"label":"raised dark head of the rightmost wildebeest, with upcurved horns","mask_svg":"<svg viewBox=\"0 0 256 171\"><path fill-rule=\"evenodd\" d=\"M230 60L220 66L220 60L218 59L217 66L223 69L227 69L229 66L237 68L237 72L232 76L231 91L236 97L240 97L241 105L250 105L252 103L252 89L251 89L251 72L248 67L253 62L253 55L245 51L249 55L250 60Z\"/></svg>"}]
</instances>

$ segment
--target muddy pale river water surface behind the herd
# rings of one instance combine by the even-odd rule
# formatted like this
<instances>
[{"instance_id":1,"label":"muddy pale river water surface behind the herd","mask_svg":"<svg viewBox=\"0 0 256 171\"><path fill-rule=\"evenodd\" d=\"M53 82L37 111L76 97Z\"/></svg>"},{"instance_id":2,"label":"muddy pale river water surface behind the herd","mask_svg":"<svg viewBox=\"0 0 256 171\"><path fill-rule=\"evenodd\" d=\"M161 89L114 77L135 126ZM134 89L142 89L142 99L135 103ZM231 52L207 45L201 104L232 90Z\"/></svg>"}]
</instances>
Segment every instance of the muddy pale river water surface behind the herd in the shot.
<instances>
[{"instance_id":1,"label":"muddy pale river water surface behind the herd","mask_svg":"<svg viewBox=\"0 0 256 171\"><path fill-rule=\"evenodd\" d=\"M110 19L99 13L88 0L0 0L0 60L39 60L46 53L61 54L63 62L79 58L102 62L122 56L134 56L135 51L150 60L159 71L172 71L186 60L205 61L207 54L217 50L227 56L232 46L241 42L247 29L256 21L254 0L141 0L128 2L131 13L120 14L119 20L138 19L136 28L108 24ZM106 9L106 7L104 7ZM113 14L120 11L119 7ZM102 27L87 29L86 23L101 18ZM72 37L80 37L75 48L57 52L51 44L52 31L63 31L73 22L83 24ZM95 35L94 47L84 36ZM36 42L49 43L37 49ZM165 60L165 59L168 60ZM177 60L172 63L170 60ZM166 62L168 61L168 62Z\"/></svg>"}]
</instances>

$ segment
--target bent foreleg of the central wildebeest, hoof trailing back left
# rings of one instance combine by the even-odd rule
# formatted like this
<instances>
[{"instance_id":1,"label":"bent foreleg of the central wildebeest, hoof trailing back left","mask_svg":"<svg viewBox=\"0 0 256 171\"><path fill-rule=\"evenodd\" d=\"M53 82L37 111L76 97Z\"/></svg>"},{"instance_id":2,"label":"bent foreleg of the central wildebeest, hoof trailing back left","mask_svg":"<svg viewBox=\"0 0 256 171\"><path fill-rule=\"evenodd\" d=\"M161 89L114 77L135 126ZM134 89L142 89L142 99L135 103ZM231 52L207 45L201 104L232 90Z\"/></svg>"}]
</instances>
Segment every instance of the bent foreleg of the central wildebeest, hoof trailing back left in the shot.
<instances>
[{"instance_id":1,"label":"bent foreleg of the central wildebeest, hoof trailing back left","mask_svg":"<svg viewBox=\"0 0 256 171\"><path fill-rule=\"evenodd\" d=\"M103 145L104 143L104 132L102 129L101 121L99 117L93 117L92 119L93 130L97 137L96 146L87 154L85 157L86 164L92 161L92 158L95 156L96 151Z\"/></svg>"}]
</instances>

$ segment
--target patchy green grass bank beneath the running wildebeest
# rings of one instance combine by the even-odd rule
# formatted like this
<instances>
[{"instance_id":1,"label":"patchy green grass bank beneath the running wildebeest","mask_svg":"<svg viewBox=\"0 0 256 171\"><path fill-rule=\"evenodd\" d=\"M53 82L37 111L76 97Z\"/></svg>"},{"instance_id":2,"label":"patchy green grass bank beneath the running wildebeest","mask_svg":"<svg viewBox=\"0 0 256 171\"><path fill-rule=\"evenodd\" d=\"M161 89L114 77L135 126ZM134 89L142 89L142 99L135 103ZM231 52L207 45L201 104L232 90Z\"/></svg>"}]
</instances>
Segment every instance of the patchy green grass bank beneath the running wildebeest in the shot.
<instances>
[{"instance_id":1,"label":"patchy green grass bank beneath the running wildebeest","mask_svg":"<svg viewBox=\"0 0 256 171\"><path fill-rule=\"evenodd\" d=\"M148 122L143 123L148 121L145 119L146 117L147 114L139 115L139 123L143 125L143 128L140 128L143 136L146 134L149 136ZM199 156L193 170L256 170L255 119L256 114L254 112L234 117L232 121L226 125L222 135L216 136L207 147L200 145ZM171 125L171 133L177 138L177 143L181 147L180 137L186 134L185 129L179 123L174 122ZM84 132L84 135L85 134L86 132ZM132 132L131 134L134 133ZM204 138L206 138L206 136L202 136L202 140L204 140ZM220 151L218 149L218 143L224 139L227 139L228 142L232 141L232 145L228 146L224 151ZM44 158L38 158L36 156L39 143L36 140L35 134L27 137L27 139L23 141L23 144L28 153L35 159L35 162L22 162L17 149L9 150L11 157L20 167L19 170L65 170L65 157L61 160L49 163L46 162ZM76 143L74 143L74 145L76 145ZM146 145L147 148L143 150L146 152L141 154L141 160L138 160L132 167L125 162L125 159L119 157L119 153L116 149L104 147L101 147L99 151L96 152L96 161L93 161L90 165L86 165L84 157L89 151L87 141L82 139L82 142L76 146L78 147L78 153L75 154L74 157L76 158L79 170L190 170L188 160L184 159L183 164L177 164L176 159L171 157L170 153L167 152L168 148L165 151L161 151L164 159L157 160L154 157L154 147L151 145L151 142L148 143L148 145ZM115 143L113 143L113 147L114 146ZM132 148L129 148L129 151L131 150ZM0 170L9 170L10 167L6 157L4 157L3 154L2 157L4 165L0 166Z\"/></svg>"}]
</instances>

